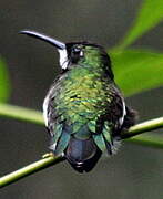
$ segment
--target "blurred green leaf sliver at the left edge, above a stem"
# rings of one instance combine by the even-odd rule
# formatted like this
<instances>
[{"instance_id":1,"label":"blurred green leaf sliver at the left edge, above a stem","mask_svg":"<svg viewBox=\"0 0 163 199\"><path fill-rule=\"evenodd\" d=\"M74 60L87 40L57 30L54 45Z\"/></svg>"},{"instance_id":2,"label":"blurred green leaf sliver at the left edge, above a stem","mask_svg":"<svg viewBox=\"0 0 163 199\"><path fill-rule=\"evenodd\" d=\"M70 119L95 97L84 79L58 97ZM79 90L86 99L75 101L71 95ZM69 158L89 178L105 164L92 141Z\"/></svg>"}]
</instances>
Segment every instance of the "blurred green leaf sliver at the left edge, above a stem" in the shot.
<instances>
[{"instance_id":1,"label":"blurred green leaf sliver at the left edge, above a stem","mask_svg":"<svg viewBox=\"0 0 163 199\"><path fill-rule=\"evenodd\" d=\"M10 95L10 81L6 62L0 59L0 102L6 102Z\"/></svg>"}]
</instances>

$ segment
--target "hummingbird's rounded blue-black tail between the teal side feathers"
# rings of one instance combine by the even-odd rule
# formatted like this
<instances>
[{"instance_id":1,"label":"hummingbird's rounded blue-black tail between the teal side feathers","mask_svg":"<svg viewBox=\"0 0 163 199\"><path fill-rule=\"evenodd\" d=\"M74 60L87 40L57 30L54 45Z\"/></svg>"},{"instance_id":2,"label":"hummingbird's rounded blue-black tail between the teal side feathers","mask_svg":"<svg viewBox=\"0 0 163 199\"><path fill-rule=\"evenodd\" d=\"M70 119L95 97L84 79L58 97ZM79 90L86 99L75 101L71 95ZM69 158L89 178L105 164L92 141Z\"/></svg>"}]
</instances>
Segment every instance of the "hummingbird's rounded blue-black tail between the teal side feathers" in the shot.
<instances>
[{"instance_id":1,"label":"hummingbird's rounded blue-black tail between the teal side feathers","mask_svg":"<svg viewBox=\"0 0 163 199\"><path fill-rule=\"evenodd\" d=\"M89 172L93 169L101 154L101 150L91 137L89 139L71 137L68 148L65 149L65 158L79 172Z\"/></svg>"}]
</instances>

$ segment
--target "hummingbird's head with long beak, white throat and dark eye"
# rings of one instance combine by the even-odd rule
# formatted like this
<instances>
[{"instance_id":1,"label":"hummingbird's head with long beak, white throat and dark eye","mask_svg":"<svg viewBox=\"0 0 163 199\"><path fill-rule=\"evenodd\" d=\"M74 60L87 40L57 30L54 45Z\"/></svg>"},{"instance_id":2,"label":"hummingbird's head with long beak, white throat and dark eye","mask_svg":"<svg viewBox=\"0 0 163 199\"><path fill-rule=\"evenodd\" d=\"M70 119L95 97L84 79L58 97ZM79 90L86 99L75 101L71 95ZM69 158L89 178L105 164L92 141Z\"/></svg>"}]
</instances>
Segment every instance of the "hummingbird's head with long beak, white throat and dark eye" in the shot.
<instances>
[{"instance_id":1,"label":"hummingbird's head with long beak, white throat and dark eye","mask_svg":"<svg viewBox=\"0 0 163 199\"><path fill-rule=\"evenodd\" d=\"M63 71L79 65L90 66L92 70L93 67L103 67L105 73L113 78L110 57L101 45L90 42L63 43L51 36L30 30L23 30L20 33L38 38L54 45L60 54L60 66Z\"/></svg>"}]
</instances>

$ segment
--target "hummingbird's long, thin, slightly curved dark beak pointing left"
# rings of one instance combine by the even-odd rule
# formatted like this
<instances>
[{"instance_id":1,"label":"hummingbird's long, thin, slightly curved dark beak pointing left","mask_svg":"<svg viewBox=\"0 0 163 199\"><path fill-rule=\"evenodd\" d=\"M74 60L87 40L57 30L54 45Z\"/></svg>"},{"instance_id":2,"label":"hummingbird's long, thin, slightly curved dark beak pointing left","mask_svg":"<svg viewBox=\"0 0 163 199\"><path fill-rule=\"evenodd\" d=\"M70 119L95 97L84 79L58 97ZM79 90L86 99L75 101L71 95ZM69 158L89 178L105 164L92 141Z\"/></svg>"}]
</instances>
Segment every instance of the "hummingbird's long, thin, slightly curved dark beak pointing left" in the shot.
<instances>
[{"instance_id":1,"label":"hummingbird's long, thin, slightly curved dark beak pointing left","mask_svg":"<svg viewBox=\"0 0 163 199\"><path fill-rule=\"evenodd\" d=\"M64 50L65 49L65 44L63 42L60 42L58 40L54 40L51 36L44 35L42 33L35 32L35 31L30 31L30 30L23 30L20 31L21 34L27 34L33 38L38 38L40 40L43 40L52 45L54 45L55 48L58 48L59 50Z\"/></svg>"}]
</instances>

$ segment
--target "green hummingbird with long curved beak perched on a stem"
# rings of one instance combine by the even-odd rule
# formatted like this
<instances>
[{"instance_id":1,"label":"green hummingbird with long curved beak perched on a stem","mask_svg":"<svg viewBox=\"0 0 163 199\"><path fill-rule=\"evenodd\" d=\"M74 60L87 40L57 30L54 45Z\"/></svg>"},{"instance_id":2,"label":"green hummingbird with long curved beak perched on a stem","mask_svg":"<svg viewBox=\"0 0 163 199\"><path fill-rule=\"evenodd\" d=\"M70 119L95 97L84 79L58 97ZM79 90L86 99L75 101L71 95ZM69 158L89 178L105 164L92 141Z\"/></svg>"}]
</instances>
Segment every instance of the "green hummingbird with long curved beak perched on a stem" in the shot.
<instances>
[{"instance_id":1,"label":"green hummingbird with long curved beak perched on a stem","mask_svg":"<svg viewBox=\"0 0 163 199\"><path fill-rule=\"evenodd\" d=\"M116 153L122 132L135 123L114 82L109 54L86 41L63 43L31 30L20 33L50 43L60 55L61 73L43 102L50 149L77 171L92 170L104 151Z\"/></svg>"}]
</instances>

